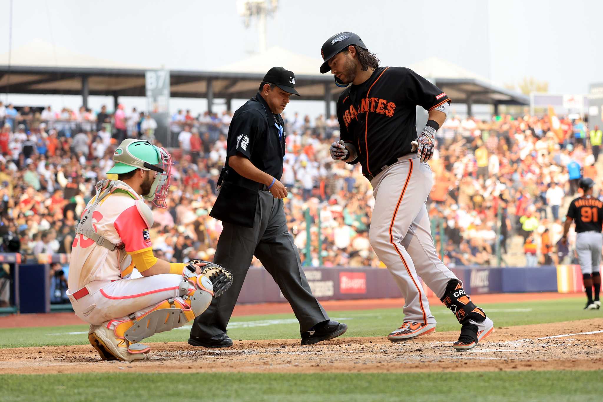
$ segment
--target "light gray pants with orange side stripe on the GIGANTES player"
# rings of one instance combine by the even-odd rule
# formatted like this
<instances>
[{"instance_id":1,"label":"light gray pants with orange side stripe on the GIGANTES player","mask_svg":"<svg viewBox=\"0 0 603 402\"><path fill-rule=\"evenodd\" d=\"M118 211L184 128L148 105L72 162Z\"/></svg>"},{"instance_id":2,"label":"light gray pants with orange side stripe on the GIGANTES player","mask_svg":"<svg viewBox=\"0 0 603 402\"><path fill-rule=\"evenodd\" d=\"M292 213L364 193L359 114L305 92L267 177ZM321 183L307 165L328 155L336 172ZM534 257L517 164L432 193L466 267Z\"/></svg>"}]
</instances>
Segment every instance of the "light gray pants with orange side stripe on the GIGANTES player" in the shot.
<instances>
[{"instance_id":1,"label":"light gray pants with orange side stripe on the GIGANTES player","mask_svg":"<svg viewBox=\"0 0 603 402\"><path fill-rule=\"evenodd\" d=\"M375 204L369 239L404 297L404 321L435 323L419 277L439 297L450 280L462 282L435 251L425 201L433 176L417 155L406 155L371 180Z\"/></svg>"}]
</instances>

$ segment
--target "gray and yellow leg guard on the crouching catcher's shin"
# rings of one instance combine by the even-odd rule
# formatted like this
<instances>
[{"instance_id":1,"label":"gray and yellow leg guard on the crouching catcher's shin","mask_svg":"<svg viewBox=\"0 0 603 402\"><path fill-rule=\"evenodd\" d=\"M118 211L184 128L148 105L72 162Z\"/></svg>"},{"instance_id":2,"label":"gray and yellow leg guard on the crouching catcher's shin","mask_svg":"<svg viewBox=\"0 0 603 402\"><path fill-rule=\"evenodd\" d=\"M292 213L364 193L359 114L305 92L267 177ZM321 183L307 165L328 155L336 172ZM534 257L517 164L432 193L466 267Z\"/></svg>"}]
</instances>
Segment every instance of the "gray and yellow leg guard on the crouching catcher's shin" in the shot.
<instances>
[{"instance_id":1,"label":"gray and yellow leg guard on the crouching catcher's shin","mask_svg":"<svg viewBox=\"0 0 603 402\"><path fill-rule=\"evenodd\" d=\"M202 289L190 289L189 281L183 281L180 286L183 302L171 298L138 318L131 314L128 316L130 319L115 327L115 335L135 344L154 334L182 327L195 319L207 310L213 297L211 282L205 277L199 282Z\"/></svg>"}]
</instances>

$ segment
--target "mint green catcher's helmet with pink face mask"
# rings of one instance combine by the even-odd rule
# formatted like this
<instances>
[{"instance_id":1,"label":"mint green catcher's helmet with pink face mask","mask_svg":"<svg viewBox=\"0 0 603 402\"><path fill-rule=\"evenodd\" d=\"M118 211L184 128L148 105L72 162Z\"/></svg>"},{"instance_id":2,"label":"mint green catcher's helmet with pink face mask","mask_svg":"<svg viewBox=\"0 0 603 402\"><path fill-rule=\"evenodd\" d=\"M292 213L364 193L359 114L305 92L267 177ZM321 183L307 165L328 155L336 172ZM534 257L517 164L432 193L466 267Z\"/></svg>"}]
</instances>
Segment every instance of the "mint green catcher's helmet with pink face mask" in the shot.
<instances>
[{"instance_id":1,"label":"mint green catcher's helmet with pink face mask","mask_svg":"<svg viewBox=\"0 0 603 402\"><path fill-rule=\"evenodd\" d=\"M172 159L165 148L159 148L148 141L127 138L115 149L113 160L115 166L107 174L124 174L134 169L156 171L151 191L142 196L147 201L153 201L157 207L167 207L165 198L168 195Z\"/></svg>"}]
</instances>

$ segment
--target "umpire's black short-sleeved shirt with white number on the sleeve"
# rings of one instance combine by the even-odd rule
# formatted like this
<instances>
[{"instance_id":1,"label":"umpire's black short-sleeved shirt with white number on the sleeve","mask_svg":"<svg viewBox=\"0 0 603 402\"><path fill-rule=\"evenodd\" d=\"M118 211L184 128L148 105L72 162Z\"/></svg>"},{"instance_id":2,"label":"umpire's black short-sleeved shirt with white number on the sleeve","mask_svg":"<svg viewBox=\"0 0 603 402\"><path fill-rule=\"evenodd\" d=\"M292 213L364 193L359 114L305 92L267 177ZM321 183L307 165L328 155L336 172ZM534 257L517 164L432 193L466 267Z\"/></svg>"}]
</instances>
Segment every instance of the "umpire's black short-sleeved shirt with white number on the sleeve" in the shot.
<instances>
[{"instance_id":1,"label":"umpire's black short-sleeved shirt with white number on the sleeve","mask_svg":"<svg viewBox=\"0 0 603 402\"><path fill-rule=\"evenodd\" d=\"M285 157L285 131L283 119L274 115L258 92L235 111L228 130L226 166L229 157L241 153L253 166L276 180L283 174ZM229 180L237 180L238 174L229 169Z\"/></svg>"}]
</instances>

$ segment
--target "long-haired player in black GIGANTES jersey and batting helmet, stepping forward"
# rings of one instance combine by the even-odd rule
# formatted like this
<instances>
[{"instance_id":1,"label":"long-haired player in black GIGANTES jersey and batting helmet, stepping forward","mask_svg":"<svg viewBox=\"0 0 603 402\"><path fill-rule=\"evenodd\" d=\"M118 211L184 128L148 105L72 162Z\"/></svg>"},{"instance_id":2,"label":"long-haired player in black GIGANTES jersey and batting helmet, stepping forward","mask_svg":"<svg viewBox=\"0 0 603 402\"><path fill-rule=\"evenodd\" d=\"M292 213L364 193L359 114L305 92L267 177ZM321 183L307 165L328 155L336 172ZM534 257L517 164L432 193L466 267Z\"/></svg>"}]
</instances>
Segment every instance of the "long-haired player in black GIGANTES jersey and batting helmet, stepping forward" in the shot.
<instances>
[{"instance_id":1,"label":"long-haired player in black GIGANTES jersey and batting helmet, stepping forward","mask_svg":"<svg viewBox=\"0 0 603 402\"><path fill-rule=\"evenodd\" d=\"M341 136L331 145L331 156L360 163L370 180L375 198L370 243L405 299L403 324L388 339L403 341L435 331L421 277L462 325L453 348L475 347L494 324L438 258L425 206L433 184L426 162L434 153L434 134L446 119L450 99L410 69L379 67L379 59L354 33L330 37L321 55L321 73L331 71L338 86L352 84L337 101ZM418 137L417 105L429 110Z\"/></svg>"}]
</instances>

